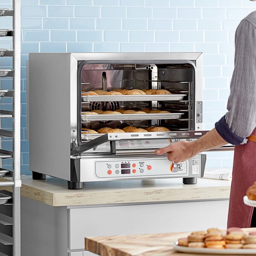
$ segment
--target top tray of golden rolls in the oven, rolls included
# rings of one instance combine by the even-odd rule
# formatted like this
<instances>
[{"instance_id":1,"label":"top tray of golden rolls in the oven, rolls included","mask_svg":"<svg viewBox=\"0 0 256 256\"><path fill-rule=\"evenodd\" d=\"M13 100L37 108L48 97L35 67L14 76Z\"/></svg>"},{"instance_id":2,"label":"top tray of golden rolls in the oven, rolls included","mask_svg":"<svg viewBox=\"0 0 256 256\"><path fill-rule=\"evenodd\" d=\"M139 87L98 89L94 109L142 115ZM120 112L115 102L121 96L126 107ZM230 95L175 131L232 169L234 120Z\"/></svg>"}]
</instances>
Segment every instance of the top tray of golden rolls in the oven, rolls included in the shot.
<instances>
[{"instance_id":1,"label":"top tray of golden rolls in the oven, rolls included","mask_svg":"<svg viewBox=\"0 0 256 256\"><path fill-rule=\"evenodd\" d=\"M139 90L139 89L114 89L112 91L94 90L94 91L82 91L82 102L93 101L109 101L111 96L112 101L179 101L183 100L187 94L173 94L168 90Z\"/></svg>"}]
</instances>

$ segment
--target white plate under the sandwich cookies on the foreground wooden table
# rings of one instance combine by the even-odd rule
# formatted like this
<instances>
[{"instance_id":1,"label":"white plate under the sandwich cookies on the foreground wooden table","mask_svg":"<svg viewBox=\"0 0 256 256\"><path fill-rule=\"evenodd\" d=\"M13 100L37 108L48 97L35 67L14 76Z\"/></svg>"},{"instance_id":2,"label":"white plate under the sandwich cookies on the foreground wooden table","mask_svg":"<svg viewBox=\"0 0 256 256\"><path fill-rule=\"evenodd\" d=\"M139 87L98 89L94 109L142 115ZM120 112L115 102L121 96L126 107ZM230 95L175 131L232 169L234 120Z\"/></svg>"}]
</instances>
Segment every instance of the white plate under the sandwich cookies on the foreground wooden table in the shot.
<instances>
[{"instance_id":1,"label":"white plate under the sandwich cookies on the foreground wooden table","mask_svg":"<svg viewBox=\"0 0 256 256\"><path fill-rule=\"evenodd\" d=\"M193 248L180 246L178 242L173 244L175 250L181 253L204 253L204 254L227 254L227 255L256 255L256 249L211 249L211 248Z\"/></svg>"}]
</instances>

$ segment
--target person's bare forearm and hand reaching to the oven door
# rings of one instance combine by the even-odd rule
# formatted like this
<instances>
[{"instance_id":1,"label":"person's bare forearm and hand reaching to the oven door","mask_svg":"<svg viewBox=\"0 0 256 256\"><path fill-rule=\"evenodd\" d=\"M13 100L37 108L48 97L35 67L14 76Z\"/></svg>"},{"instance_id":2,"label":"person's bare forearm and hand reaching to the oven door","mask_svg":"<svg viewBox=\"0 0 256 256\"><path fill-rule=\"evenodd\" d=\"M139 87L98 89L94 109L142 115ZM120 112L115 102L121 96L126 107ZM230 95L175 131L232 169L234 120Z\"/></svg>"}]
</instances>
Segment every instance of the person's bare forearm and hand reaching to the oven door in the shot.
<instances>
[{"instance_id":1,"label":"person's bare forearm and hand reaching to the oven door","mask_svg":"<svg viewBox=\"0 0 256 256\"><path fill-rule=\"evenodd\" d=\"M171 143L165 148L157 149L156 154L167 153L167 157L174 163L183 162L196 154L207 151L212 148L218 148L228 144L216 131L212 129L207 134L191 142L180 140L175 143Z\"/></svg>"}]
</instances>

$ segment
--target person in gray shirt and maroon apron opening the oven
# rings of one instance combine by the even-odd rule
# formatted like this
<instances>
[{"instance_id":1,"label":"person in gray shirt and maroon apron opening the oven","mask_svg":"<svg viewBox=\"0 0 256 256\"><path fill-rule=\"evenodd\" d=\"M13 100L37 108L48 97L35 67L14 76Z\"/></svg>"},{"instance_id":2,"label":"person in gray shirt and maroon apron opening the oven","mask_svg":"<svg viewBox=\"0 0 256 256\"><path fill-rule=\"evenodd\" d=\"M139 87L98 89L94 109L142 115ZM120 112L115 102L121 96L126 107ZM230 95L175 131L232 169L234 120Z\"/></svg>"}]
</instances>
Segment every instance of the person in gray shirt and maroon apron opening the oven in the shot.
<instances>
[{"instance_id":1,"label":"person in gray shirt and maroon apron opening the oven","mask_svg":"<svg viewBox=\"0 0 256 256\"><path fill-rule=\"evenodd\" d=\"M227 113L198 140L181 140L157 149L156 154L166 153L170 161L178 163L228 143L235 149L227 227L256 227L256 208L243 202L247 188L256 180L256 11L236 29Z\"/></svg>"}]
</instances>

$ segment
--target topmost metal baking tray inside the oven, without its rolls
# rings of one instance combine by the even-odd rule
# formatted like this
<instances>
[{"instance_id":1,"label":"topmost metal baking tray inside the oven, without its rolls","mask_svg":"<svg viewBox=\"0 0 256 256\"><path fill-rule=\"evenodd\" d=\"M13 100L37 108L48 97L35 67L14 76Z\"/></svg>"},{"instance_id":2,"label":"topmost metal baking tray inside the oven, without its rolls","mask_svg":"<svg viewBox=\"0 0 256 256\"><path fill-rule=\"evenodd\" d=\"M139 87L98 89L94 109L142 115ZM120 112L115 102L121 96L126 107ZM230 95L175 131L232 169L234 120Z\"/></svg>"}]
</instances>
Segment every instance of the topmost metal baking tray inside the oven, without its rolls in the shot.
<instances>
[{"instance_id":1,"label":"topmost metal baking tray inside the oven, without its rolls","mask_svg":"<svg viewBox=\"0 0 256 256\"><path fill-rule=\"evenodd\" d=\"M108 102L108 101L178 101L183 100L187 94L168 95L88 95L81 96L82 102Z\"/></svg>"}]
</instances>

